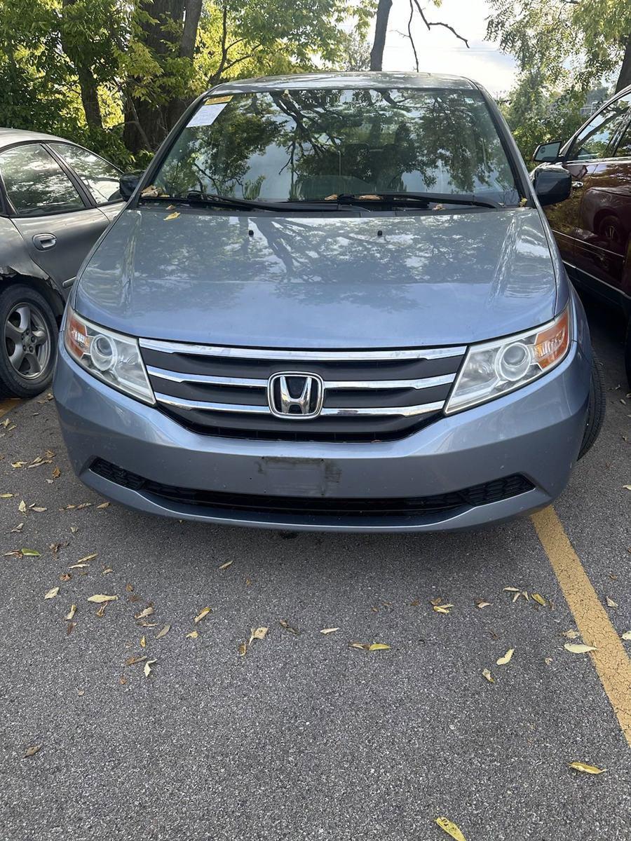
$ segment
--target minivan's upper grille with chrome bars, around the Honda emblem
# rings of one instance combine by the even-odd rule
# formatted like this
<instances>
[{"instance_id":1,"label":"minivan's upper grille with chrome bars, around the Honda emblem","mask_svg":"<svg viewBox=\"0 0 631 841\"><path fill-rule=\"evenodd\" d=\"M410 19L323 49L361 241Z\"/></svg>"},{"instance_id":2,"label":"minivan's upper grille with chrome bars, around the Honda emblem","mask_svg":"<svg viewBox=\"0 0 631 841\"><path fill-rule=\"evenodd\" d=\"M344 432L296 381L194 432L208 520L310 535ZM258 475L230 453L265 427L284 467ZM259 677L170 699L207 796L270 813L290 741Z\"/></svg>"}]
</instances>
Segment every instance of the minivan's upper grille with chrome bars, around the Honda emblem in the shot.
<instances>
[{"instance_id":1,"label":"minivan's upper grille with chrome bars, around the Honda emblem","mask_svg":"<svg viewBox=\"0 0 631 841\"><path fill-rule=\"evenodd\" d=\"M287 351L141 340L162 410L208 434L284 440L410 434L442 412L465 349ZM270 410L268 383L278 373L321 381L317 417Z\"/></svg>"}]
</instances>

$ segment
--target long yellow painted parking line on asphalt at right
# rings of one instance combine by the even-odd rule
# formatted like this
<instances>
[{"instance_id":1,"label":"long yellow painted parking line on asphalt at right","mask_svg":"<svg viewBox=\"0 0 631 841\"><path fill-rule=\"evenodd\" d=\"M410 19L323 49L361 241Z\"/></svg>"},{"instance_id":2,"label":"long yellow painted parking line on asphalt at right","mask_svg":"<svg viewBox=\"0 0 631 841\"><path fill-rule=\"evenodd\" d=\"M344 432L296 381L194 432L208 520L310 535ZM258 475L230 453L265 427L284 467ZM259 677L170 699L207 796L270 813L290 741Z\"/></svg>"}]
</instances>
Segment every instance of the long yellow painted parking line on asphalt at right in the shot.
<instances>
[{"instance_id":1,"label":"long yellow painted parking line on asphalt at right","mask_svg":"<svg viewBox=\"0 0 631 841\"><path fill-rule=\"evenodd\" d=\"M631 747L631 660L554 508L550 505L532 519L583 642L597 649L591 659Z\"/></svg>"}]
</instances>

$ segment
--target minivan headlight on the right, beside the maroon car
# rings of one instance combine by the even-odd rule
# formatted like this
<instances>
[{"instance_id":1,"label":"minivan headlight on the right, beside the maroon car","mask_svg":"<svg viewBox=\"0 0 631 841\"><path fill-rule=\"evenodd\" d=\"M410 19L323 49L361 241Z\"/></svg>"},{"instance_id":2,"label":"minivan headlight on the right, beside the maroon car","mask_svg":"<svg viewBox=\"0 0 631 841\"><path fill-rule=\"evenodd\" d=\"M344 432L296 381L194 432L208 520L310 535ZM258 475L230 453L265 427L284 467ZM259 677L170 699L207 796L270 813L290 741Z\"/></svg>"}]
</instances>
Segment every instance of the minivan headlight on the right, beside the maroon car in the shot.
<instances>
[{"instance_id":1,"label":"minivan headlight on the right, beside the maroon car","mask_svg":"<svg viewBox=\"0 0 631 841\"><path fill-rule=\"evenodd\" d=\"M485 403L550 371L570 348L570 326L568 304L554 321L536 330L470 346L445 412Z\"/></svg>"}]
</instances>

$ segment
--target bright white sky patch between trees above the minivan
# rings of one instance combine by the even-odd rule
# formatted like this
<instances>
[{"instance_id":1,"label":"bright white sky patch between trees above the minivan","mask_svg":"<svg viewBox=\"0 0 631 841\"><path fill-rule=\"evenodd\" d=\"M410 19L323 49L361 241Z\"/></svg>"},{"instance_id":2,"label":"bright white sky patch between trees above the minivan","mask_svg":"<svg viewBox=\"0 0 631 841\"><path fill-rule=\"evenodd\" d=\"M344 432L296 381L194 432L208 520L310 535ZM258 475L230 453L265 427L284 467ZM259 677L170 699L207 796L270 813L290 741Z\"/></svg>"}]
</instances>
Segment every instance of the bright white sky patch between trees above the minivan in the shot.
<instances>
[{"instance_id":1,"label":"bright white sky patch between trees above the minivan","mask_svg":"<svg viewBox=\"0 0 631 841\"><path fill-rule=\"evenodd\" d=\"M484 40L486 19L490 11L486 0L443 0L440 8L422 3L427 20L451 24L469 40L469 47L443 27L434 26L430 32L415 13L412 34L418 52L419 70L467 76L484 85L498 96L507 93L515 79L516 66L512 56L506 56L495 44ZM388 36L385 41L384 70L415 70L414 55L407 38L410 18L408 0L393 0ZM372 42L372 33L369 36Z\"/></svg>"}]
</instances>

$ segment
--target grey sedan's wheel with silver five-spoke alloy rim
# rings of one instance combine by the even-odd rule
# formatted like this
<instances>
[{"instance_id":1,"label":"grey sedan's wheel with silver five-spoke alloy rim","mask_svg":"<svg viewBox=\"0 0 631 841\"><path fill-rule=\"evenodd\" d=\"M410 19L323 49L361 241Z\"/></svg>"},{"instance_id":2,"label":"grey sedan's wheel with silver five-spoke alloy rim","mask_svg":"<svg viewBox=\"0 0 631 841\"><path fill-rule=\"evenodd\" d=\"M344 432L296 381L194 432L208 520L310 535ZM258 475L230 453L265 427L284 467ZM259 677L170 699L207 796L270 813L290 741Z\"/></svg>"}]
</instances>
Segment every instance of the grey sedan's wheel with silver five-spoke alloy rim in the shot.
<instances>
[{"instance_id":1,"label":"grey sedan's wheel with silver five-spoke alloy rim","mask_svg":"<svg viewBox=\"0 0 631 841\"><path fill-rule=\"evenodd\" d=\"M55 314L36 289L0 294L0 394L28 399L50 386L57 350Z\"/></svg>"}]
</instances>

